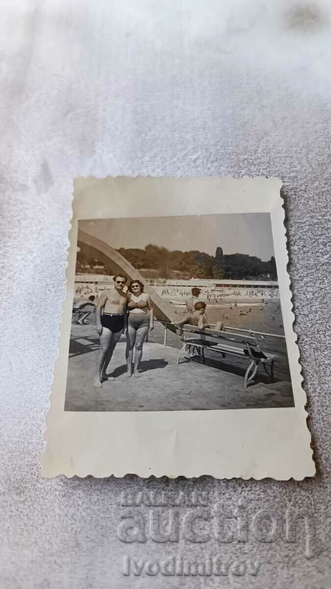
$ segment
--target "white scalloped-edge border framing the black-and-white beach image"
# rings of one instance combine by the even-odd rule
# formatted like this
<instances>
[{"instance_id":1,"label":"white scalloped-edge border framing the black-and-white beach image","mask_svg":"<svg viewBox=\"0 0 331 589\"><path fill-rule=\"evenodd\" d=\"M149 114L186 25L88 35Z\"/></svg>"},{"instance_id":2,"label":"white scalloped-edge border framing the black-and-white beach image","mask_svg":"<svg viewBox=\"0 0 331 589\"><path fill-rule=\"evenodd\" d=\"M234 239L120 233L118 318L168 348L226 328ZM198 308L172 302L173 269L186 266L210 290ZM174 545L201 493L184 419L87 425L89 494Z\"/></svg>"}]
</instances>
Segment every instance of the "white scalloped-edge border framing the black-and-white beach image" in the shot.
<instances>
[{"instance_id":1,"label":"white scalloped-edge border framing the black-and-white beach image","mask_svg":"<svg viewBox=\"0 0 331 589\"><path fill-rule=\"evenodd\" d=\"M279 178L87 177L74 201L59 355L55 362L41 477L140 477L286 480L315 475L307 428ZM208 411L64 411L78 220L270 213L294 407ZM247 391L249 395L249 390Z\"/></svg>"}]
</instances>

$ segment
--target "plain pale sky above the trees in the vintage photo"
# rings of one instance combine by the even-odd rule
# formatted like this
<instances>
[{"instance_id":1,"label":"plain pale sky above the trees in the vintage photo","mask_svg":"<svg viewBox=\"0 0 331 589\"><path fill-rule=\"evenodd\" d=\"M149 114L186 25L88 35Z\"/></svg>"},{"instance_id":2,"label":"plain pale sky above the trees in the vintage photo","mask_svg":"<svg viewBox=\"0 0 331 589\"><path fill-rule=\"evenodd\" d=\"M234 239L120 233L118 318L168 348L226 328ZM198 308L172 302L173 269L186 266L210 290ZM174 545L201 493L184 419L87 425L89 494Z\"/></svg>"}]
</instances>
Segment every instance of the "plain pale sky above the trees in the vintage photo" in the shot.
<instances>
[{"instance_id":1,"label":"plain pale sky above the trees in the vintage photo","mask_svg":"<svg viewBox=\"0 0 331 589\"><path fill-rule=\"evenodd\" d=\"M269 213L95 219L79 221L79 227L114 249L144 249L151 243L212 256L217 246L224 254L249 254L264 261L274 255Z\"/></svg>"}]
</instances>

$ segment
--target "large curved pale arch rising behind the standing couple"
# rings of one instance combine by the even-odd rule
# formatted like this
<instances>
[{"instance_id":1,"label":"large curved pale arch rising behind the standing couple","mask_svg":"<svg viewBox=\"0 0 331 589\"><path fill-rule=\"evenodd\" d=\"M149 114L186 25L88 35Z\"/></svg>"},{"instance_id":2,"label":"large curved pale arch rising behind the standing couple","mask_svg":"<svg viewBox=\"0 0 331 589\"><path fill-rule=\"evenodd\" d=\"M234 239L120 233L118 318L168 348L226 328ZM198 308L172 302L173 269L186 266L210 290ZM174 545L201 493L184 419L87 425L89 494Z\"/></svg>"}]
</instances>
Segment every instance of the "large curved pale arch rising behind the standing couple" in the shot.
<instances>
[{"instance_id":1,"label":"large curved pale arch rising behind the standing couple","mask_svg":"<svg viewBox=\"0 0 331 589\"><path fill-rule=\"evenodd\" d=\"M173 309L171 309L170 303L167 303L162 299L157 292L155 292L153 287L148 284L144 277L141 276L138 270L136 270L130 262L125 260L125 257L121 256L121 254L111 246L108 246L107 243L101 241L97 237L78 229L78 247L80 247L82 252L87 252L88 248L89 256L95 257L108 266L111 266L115 274L124 273L124 275L128 277L128 280L140 280L140 282L144 284L144 292L151 297L155 317L161 321L172 322L174 320L174 312ZM171 329L171 326L168 327Z\"/></svg>"}]
</instances>

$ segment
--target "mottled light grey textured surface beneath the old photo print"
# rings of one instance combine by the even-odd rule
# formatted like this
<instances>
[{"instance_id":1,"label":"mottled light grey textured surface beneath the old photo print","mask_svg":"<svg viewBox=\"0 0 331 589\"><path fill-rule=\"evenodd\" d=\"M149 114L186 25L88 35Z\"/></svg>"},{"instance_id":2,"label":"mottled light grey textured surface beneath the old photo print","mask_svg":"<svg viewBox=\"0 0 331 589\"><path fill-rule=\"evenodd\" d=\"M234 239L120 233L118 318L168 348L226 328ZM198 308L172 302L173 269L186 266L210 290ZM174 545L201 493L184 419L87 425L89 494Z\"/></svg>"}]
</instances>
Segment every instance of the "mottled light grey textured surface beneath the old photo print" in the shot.
<instances>
[{"instance_id":1,"label":"mottled light grey textured surface beneath the old photo print","mask_svg":"<svg viewBox=\"0 0 331 589\"><path fill-rule=\"evenodd\" d=\"M1 587L326 589L329 2L5 0L0 27ZM88 174L283 179L315 479L38 479L65 292L72 178ZM233 508L242 501L250 514L272 508L282 519L287 508L307 509L327 550L316 555L317 545L306 558L302 524L293 543L282 530L270 543L254 535L226 544L118 540L120 491L193 488L209 491L211 504L221 499ZM123 575L124 554L143 560L223 554L262 564L256 577L134 578Z\"/></svg>"}]
</instances>

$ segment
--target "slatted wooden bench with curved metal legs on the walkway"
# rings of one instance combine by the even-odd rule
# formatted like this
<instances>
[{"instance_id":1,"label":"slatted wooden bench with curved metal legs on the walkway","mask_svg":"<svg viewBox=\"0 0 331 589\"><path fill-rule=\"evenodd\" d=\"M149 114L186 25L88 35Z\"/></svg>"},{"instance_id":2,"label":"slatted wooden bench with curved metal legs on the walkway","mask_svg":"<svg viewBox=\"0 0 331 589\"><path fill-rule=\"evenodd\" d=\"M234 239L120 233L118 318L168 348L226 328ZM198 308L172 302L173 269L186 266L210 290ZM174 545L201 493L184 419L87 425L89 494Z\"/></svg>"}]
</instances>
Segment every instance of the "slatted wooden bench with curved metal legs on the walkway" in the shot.
<instances>
[{"instance_id":1,"label":"slatted wooden bench with curved metal legs on the walkway","mask_svg":"<svg viewBox=\"0 0 331 589\"><path fill-rule=\"evenodd\" d=\"M263 352L259 341L252 332L247 332L247 335L239 335L238 333L216 331L208 328L199 329L187 324L181 327L181 341L183 342L183 348L178 354L177 364L184 358L194 358L194 356L190 355L190 349L193 346L197 349L203 363L206 362L204 357L205 349L220 353L222 358L230 355L247 359L249 366L244 376L245 389L254 379L260 364L263 365L267 375L273 378L273 365L277 355ZM270 366L270 373L267 366Z\"/></svg>"}]
</instances>

